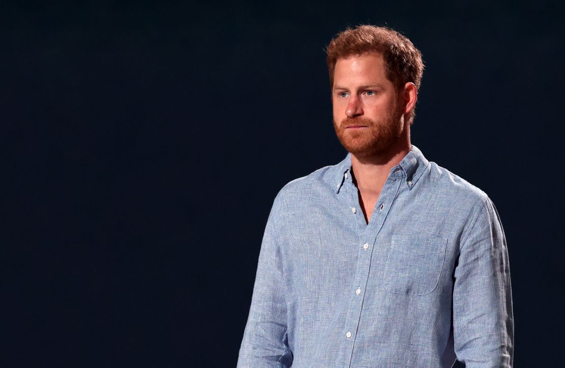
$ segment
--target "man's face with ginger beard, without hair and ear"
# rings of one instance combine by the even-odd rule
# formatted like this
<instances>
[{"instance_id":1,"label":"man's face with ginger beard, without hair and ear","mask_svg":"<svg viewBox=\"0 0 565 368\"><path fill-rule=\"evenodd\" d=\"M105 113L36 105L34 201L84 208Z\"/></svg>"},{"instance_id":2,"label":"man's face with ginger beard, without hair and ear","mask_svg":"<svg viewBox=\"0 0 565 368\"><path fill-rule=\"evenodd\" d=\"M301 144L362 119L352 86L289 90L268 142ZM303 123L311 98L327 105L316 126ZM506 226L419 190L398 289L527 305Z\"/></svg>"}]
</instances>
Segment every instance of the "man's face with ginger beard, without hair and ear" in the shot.
<instances>
[{"instance_id":1,"label":"man's face with ginger beard, without hair and ear","mask_svg":"<svg viewBox=\"0 0 565 368\"><path fill-rule=\"evenodd\" d=\"M385 76L381 54L338 59L332 103L337 138L355 156L383 154L403 133L398 91Z\"/></svg>"}]
</instances>

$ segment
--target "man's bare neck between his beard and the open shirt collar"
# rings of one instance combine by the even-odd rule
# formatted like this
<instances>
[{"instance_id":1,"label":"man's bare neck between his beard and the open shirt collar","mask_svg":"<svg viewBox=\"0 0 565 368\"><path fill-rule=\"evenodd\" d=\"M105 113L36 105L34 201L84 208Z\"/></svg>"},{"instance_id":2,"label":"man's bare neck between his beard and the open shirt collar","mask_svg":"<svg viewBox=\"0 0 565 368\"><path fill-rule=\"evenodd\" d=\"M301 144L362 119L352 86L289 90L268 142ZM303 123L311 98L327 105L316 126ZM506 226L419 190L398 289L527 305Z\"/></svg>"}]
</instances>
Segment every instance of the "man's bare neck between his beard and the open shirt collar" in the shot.
<instances>
[{"instance_id":1,"label":"man's bare neck between his beard and the open shirt collar","mask_svg":"<svg viewBox=\"0 0 565 368\"><path fill-rule=\"evenodd\" d=\"M390 169L402 161L411 147L410 137L407 137L407 139L399 139L384 152L371 155L351 154L351 167L359 191L380 192Z\"/></svg>"}]
</instances>

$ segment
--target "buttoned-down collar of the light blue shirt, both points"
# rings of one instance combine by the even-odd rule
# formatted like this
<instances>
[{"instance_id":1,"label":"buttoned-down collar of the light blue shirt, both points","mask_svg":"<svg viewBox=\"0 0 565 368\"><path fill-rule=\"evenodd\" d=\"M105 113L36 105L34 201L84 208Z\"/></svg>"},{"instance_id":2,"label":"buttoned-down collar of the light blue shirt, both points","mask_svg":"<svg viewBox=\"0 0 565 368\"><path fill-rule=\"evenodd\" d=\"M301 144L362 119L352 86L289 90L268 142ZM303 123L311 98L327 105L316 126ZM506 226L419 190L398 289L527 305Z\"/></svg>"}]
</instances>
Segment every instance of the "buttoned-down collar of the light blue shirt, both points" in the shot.
<instances>
[{"instance_id":1,"label":"buttoned-down collar of the light blue shirt, both points","mask_svg":"<svg viewBox=\"0 0 565 368\"><path fill-rule=\"evenodd\" d=\"M401 172L402 177L405 179L406 186L412 189L421 174L424 173L425 168L428 166L429 161L424 157L418 147L412 144L410 151L404 158L392 169L390 173ZM345 159L336 165L336 176L334 180L336 193L340 192L341 186L345 181L345 173L348 175L351 172L351 154L347 153Z\"/></svg>"}]
</instances>

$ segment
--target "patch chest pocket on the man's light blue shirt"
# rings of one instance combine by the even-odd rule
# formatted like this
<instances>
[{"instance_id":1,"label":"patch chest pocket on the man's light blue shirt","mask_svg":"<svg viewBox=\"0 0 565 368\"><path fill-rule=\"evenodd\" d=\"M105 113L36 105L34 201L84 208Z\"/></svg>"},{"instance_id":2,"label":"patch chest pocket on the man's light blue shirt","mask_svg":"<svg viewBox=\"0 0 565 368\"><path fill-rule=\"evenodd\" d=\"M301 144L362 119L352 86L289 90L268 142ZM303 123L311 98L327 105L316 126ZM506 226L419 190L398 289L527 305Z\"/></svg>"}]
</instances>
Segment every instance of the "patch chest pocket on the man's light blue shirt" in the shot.
<instances>
[{"instance_id":1,"label":"patch chest pocket on the man's light blue shirt","mask_svg":"<svg viewBox=\"0 0 565 368\"><path fill-rule=\"evenodd\" d=\"M383 273L384 287L392 293L429 294L437 287L444 266L447 239L394 235Z\"/></svg>"}]
</instances>

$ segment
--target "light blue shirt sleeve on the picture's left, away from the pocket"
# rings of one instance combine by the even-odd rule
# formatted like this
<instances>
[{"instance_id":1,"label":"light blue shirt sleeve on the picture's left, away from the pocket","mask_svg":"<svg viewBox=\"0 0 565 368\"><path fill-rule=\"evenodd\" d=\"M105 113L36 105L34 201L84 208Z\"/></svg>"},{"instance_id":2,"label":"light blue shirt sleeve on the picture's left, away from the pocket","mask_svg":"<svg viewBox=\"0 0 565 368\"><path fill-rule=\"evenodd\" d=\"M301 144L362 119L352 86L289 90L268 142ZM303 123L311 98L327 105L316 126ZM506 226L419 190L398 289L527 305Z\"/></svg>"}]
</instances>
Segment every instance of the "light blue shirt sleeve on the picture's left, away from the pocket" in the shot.
<instances>
[{"instance_id":1,"label":"light blue shirt sleeve on the picture's left, away from the pocket","mask_svg":"<svg viewBox=\"0 0 565 368\"><path fill-rule=\"evenodd\" d=\"M275 199L263 235L238 368L284 368L292 364L292 352L286 336L286 301L275 224L279 196Z\"/></svg>"}]
</instances>

